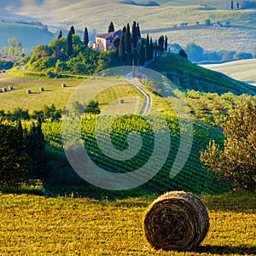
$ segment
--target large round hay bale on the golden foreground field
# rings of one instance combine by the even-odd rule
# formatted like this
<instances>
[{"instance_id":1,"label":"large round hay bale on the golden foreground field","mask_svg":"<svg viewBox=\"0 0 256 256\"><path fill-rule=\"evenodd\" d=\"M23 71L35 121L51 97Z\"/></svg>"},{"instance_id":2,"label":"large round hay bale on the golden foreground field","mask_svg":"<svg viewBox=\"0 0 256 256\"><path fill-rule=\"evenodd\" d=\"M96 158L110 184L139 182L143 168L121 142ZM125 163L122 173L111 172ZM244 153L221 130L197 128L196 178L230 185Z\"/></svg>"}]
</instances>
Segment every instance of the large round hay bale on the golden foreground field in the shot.
<instances>
[{"instance_id":1,"label":"large round hay bale on the golden foreground field","mask_svg":"<svg viewBox=\"0 0 256 256\"><path fill-rule=\"evenodd\" d=\"M155 249L184 251L207 236L209 216L203 202L184 191L160 195L145 212L143 230Z\"/></svg>"}]
</instances>

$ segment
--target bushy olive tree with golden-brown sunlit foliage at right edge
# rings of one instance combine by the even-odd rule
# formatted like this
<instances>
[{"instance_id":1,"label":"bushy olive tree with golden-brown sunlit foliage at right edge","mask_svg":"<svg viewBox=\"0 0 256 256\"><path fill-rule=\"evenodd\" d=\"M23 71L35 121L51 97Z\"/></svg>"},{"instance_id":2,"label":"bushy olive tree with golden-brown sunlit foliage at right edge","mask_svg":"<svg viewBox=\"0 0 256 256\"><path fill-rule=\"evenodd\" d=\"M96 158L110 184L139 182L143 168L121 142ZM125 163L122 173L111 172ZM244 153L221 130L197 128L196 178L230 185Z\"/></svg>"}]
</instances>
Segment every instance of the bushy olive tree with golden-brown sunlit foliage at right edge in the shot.
<instances>
[{"instance_id":1,"label":"bushy olive tree with golden-brown sunlit foliage at right edge","mask_svg":"<svg viewBox=\"0 0 256 256\"><path fill-rule=\"evenodd\" d=\"M210 142L201 161L234 183L234 188L256 191L256 102L243 99L223 123L223 145Z\"/></svg>"}]
</instances>

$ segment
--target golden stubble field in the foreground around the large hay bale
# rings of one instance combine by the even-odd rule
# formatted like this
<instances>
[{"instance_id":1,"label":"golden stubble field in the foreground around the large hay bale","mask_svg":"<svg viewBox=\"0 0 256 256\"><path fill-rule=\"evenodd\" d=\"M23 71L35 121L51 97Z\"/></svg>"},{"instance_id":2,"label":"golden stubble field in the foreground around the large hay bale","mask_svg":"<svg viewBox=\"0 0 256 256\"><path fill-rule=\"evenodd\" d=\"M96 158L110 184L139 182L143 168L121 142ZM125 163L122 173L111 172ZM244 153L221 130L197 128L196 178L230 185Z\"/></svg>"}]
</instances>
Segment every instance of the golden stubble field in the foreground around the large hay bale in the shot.
<instances>
[{"instance_id":1,"label":"golden stubble field in the foreground around the large hay bale","mask_svg":"<svg viewBox=\"0 0 256 256\"><path fill-rule=\"evenodd\" d=\"M202 196L210 230L191 252L151 249L143 212L153 198L116 201L0 194L1 255L255 255L255 197Z\"/></svg>"}]
</instances>

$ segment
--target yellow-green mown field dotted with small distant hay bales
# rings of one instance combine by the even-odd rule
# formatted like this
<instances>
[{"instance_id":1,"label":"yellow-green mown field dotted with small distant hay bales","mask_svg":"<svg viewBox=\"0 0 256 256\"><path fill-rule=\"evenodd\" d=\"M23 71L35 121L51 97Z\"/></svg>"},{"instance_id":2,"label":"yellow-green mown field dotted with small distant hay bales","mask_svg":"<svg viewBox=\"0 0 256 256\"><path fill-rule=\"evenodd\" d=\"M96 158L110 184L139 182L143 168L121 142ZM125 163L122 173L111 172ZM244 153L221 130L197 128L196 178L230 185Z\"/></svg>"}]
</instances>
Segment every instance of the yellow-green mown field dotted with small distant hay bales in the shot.
<instances>
[{"instance_id":1,"label":"yellow-green mown field dotted with small distant hay bales","mask_svg":"<svg viewBox=\"0 0 256 256\"><path fill-rule=\"evenodd\" d=\"M66 83L67 87L61 88L62 83ZM29 112L32 113L34 109L42 109L44 105L50 105L51 103L55 103L57 108L63 109L73 91L80 84L84 84L86 90L92 92L94 86L97 90L102 88L101 94L95 98L101 104L102 110L108 106L108 111L114 111L118 114L125 110L132 110L132 113L137 113L143 108L143 96L133 85L125 83L124 79L110 79L108 84L109 86L114 85L114 87L103 90L102 85L106 85L105 79L40 79L10 76L6 73L0 74L0 88L13 85L14 90L0 93L0 109L7 111L20 107L29 109ZM40 87L44 87L44 92L39 91ZM32 90L32 94L28 95L26 93L28 89ZM125 98L124 104L120 104L118 101L121 98Z\"/></svg>"}]
</instances>

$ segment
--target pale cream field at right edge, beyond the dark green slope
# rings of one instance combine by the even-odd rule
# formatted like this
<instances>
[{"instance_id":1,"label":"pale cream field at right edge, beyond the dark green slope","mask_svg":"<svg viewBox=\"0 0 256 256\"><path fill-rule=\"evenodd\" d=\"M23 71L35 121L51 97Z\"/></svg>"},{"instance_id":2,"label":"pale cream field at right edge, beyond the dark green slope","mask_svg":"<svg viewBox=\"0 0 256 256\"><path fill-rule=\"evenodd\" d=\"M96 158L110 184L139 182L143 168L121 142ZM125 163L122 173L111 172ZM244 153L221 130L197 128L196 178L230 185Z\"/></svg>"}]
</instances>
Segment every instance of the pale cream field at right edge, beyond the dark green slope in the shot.
<instances>
[{"instance_id":1,"label":"pale cream field at right edge, beyond the dark green slope","mask_svg":"<svg viewBox=\"0 0 256 256\"><path fill-rule=\"evenodd\" d=\"M256 85L256 59L201 66L224 73L233 79Z\"/></svg>"}]
</instances>

